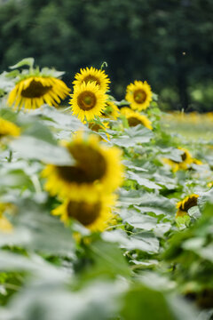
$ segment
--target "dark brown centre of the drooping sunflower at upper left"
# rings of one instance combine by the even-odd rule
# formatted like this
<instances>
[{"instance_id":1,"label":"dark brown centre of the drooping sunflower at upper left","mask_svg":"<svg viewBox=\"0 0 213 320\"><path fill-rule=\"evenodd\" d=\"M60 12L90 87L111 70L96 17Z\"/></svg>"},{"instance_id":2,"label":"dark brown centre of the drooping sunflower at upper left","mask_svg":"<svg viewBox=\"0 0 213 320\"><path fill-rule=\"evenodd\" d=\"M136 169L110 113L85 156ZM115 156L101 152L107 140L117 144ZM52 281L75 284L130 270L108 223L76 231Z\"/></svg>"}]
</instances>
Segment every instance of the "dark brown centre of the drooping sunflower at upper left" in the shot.
<instances>
[{"instance_id":1,"label":"dark brown centre of the drooping sunflower at upper left","mask_svg":"<svg viewBox=\"0 0 213 320\"><path fill-rule=\"evenodd\" d=\"M39 81L32 80L28 85L28 88L21 91L21 95L24 98L40 98L51 90L51 85L43 85Z\"/></svg>"}]
</instances>

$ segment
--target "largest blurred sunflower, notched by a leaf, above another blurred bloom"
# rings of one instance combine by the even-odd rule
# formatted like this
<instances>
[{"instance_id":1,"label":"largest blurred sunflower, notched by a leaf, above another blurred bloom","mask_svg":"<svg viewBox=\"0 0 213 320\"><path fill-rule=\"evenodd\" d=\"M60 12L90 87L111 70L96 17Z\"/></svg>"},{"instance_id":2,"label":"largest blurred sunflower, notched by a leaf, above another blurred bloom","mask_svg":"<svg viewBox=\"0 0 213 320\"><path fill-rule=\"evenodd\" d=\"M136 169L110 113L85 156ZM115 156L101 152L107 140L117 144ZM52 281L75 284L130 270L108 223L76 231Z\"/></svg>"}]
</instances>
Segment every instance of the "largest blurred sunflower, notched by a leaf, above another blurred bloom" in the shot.
<instances>
[{"instance_id":1,"label":"largest blurred sunflower, notched by a leaf, above another blurred bloom","mask_svg":"<svg viewBox=\"0 0 213 320\"><path fill-rule=\"evenodd\" d=\"M75 159L75 165L48 164L43 170L47 178L44 188L52 196L72 196L75 200L93 198L97 190L113 191L122 184L121 151L99 143L99 137L78 132L66 148Z\"/></svg>"}]
</instances>

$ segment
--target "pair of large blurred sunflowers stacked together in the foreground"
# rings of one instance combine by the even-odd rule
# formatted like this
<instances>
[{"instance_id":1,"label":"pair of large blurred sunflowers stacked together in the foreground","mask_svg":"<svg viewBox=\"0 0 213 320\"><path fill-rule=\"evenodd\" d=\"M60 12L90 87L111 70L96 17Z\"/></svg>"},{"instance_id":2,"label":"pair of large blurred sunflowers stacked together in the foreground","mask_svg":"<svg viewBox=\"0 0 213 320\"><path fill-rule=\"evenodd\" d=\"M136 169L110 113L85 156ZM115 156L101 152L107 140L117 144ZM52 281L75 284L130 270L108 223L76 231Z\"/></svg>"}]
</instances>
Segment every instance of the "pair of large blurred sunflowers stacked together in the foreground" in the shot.
<instances>
[{"instance_id":1,"label":"pair of large blurred sunflowers stacked together in the foreground","mask_svg":"<svg viewBox=\"0 0 213 320\"><path fill-rule=\"evenodd\" d=\"M52 213L66 223L73 218L86 228L102 231L114 219L114 190L122 184L121 152L106 148L98 136L83 132L64 145L75 164L48 164L43 170L47 178L44 188L62 200Z\"/></svg>"}]
</instances>

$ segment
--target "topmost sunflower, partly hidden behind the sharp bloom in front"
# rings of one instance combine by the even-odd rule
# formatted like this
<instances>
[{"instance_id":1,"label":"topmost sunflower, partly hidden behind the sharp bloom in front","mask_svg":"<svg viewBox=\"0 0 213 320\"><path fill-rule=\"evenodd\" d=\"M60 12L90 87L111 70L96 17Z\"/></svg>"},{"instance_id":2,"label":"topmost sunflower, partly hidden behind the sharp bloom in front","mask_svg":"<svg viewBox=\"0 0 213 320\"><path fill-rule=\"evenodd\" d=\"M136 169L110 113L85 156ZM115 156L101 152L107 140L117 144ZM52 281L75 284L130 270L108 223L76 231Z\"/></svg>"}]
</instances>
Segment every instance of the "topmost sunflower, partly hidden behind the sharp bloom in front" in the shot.
<instances>
[{"instance_id":1,"label":"topmost sunflower, partly hidden behind the sharp bloom in front","mask_svg":"<svg viewBox=\"0 0 213 320\"><path fill-rule=\"evenodd\" d=\"M109 88L110 80L106 76L105 71L96 69L96 68L81 68L80 73L77 73L75 75L75 81L73 82L74 85L81 85L88 83L94 83L99 85L99 89L103 92L106 92L106 90Z\"/></svg>"}]
</instances>

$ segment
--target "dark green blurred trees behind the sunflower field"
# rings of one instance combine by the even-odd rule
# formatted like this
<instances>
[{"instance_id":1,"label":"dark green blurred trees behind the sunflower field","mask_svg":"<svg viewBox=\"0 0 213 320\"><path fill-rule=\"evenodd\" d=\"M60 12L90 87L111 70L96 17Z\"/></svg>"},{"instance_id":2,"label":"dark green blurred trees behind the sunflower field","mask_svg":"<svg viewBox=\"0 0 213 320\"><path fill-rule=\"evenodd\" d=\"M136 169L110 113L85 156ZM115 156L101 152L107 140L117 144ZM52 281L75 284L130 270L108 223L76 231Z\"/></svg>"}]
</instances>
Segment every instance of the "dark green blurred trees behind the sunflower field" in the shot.
<instances>
[{"instance_id":1,"label":"dark green blurred trees behind the sunflower field","mask_svg":"<svg viewBox=\"0 0 213 320\"><path fill-rule=\"evenodd\" d=\"M213 110L212 0L0 0L0 72L34 57L40 67L100 68L122 100L146 80L164 110Z\"/></svg>"}]
</instances>

